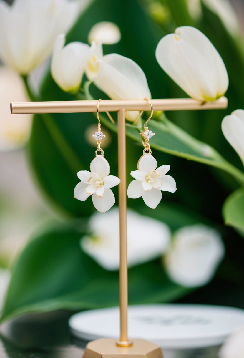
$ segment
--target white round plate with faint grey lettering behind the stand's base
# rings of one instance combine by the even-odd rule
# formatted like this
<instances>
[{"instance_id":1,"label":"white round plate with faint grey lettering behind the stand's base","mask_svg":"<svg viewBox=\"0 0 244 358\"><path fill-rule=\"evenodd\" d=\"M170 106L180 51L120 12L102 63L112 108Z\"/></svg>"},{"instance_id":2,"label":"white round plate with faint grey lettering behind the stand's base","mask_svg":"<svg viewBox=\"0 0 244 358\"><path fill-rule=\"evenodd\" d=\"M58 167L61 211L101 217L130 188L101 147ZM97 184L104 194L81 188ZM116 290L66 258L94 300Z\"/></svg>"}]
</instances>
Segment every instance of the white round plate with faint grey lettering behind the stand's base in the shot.
<instances>
[{"instance_id":1,"label":"white round plate with faint grey lettering behind the stand's base","mask_svg":"<svg viewBox=\"0 0 244 358\"><path fill-rule=\"evenodd\" d=\"M119 308L84 311L69 320L72 333L85 340L119 337ZM220 345L244 326L244 310L206 305L156 304L129 306L128 335L163 348Z\"/></svg>"}]
</instances>

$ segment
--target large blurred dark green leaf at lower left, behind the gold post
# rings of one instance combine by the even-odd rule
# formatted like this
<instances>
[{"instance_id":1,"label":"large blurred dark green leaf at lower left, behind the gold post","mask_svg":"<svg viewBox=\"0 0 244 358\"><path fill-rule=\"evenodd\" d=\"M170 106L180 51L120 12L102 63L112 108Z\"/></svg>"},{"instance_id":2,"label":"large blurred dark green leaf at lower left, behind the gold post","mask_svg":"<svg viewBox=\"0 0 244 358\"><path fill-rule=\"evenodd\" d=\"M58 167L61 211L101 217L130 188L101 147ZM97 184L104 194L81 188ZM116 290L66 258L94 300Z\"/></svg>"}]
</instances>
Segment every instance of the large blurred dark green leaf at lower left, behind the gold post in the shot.
<instances>
[{"instance_id":1,"label":"large blurred dark green leaf at lower left, behind the gold post","mask_svg":"<svg viewBox=\"0 0 244 358\"><path fill-rule=\"evenodd\" d=\"M13 267L1 321L31 312L118 305L118 272L104 270L82 252L83 234L71 226L53 229L25 247ZM131 268L128 277L130 304L172 301L189 292L167 278L160 260Z\"/></svg>"}]
</instances>

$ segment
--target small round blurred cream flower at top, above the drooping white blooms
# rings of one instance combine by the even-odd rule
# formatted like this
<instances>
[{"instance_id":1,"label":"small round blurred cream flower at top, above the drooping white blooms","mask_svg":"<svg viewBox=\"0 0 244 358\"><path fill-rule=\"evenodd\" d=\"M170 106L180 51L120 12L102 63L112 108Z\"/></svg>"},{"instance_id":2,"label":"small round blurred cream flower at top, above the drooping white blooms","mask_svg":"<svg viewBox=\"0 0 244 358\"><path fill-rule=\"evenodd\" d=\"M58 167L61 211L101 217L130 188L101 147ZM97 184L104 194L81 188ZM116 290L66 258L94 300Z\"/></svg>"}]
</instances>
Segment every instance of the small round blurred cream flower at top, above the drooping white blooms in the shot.
<instances>
[{"instance_id":1,"label":"small round blurred cream flower at top, above the drooping white blooms","mask_svg":"<svg viewBox=\"0 0 244 358\"><path fill-rule=\"evenodd\" d=\"M88 34L88 42L91 44L93 41L97 44L116 44L121 39L121 33L118 25L109 21L101 21L92 26Z\"/></svg>"}]
</instances>

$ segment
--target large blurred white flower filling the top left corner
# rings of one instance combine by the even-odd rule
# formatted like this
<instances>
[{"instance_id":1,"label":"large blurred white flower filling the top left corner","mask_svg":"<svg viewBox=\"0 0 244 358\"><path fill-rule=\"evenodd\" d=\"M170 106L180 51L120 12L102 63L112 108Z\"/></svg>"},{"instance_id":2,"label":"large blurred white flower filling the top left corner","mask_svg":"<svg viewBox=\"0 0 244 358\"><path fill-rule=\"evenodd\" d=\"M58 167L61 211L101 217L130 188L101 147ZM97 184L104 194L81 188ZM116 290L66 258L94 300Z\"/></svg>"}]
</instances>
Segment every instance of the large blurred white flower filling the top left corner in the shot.
<instances>
[{"instance_id":1,"label":"large blurred white flower filling the top left corner","mask_svg":"<svg viewBox=\"0 0 244 358\"><path fill-rule=\"evenodd\" d=\"M79 15L79 0L0 0L0 58L28 74L52 52L58 34L67 32Z\"/></svg>"}]
</instances>

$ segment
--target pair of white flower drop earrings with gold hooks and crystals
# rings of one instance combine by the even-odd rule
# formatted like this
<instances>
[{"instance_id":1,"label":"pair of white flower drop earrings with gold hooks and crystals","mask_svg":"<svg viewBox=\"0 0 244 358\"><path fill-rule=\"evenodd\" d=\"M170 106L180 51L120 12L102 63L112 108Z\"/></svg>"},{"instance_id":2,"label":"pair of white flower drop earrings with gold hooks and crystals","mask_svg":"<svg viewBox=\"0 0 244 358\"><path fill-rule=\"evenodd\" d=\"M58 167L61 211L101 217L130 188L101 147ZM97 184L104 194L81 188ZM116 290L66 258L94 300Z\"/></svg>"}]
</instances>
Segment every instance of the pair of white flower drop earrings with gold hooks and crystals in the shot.
<instances>
[{"instance_id":1,"label":"pair of white flower drop earrings with gold hooks and crystals","mask_svg":"<svg viewBox=\"0 0 244 358\"><path fill-rule=\"evenodd\" d=\"M148 129L147 122L152 118L153 107L148 98L144 98L150 103L151 115L144 124L142 136L143 154L138 160L137 169L131 171L131 176L135 179L128 186L128 198L137 199L142 197L145 204L155 209L162 198L162 191L174 193L176 191L176 183L174 178L166 173L170 170L170 165L162 165L157 168L157 161L152 156L149 140L154 133ZM108 211L115 203L114 194L111 188L120 183L117 176L109 175L110 166L108 161L104 158L104 151L101 148L101 140L104 134L101 131L101 123L99 118L99 103L97 102L97 132L93 137L97 140L97 149L95 151L95 158L90 164L90 171L80 170L77 173L80 183L74 188L74 197L78 200L85 201L92 195L92 202L94 207L101 213ZM140 115L142 112L140 113ZM137 117L136 121L140 117ZM111 116L109 118L112 120ZM136 123L134 122L134 124ZM98 153L100 153L98 155Z\"/></svg>"}]
</instances>

